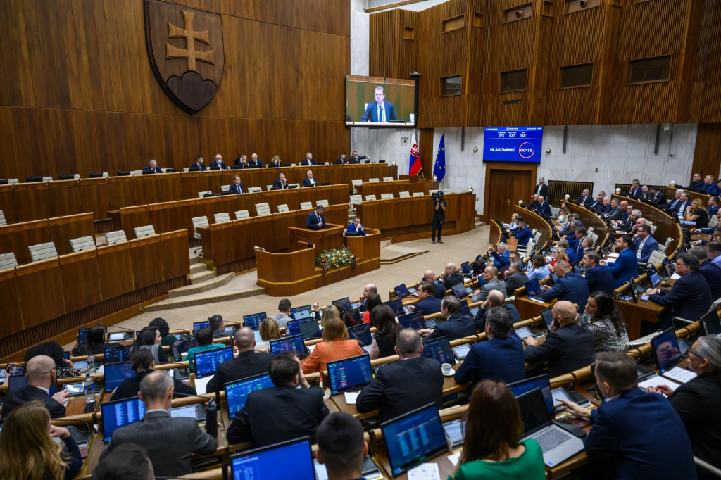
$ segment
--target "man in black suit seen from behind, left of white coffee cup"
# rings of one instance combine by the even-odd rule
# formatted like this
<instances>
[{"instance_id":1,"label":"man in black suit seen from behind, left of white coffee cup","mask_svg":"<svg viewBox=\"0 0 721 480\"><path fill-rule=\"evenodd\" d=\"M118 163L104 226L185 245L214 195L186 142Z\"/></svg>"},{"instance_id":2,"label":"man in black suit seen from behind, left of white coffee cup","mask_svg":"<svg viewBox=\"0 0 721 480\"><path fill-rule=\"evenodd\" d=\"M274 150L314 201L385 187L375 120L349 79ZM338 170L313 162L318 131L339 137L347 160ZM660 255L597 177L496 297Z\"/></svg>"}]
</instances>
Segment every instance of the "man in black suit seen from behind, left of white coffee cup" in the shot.
<instances>
[{"instance_id":1,"label":"man in black suit seen from behind, left of white coffee cup","mask_svg":"<svg viewBox=\"0 0 721 480\"><path fill-rule=\"evenodd\" d=\"M423 352L420 335L404 329L394 348L398 361L381 365L376 378L363 387L355 399L358 412L380 409L381 422L385 422L430 403L443 408L441 364L420 355Z\"/></svg>"}]
</instances>

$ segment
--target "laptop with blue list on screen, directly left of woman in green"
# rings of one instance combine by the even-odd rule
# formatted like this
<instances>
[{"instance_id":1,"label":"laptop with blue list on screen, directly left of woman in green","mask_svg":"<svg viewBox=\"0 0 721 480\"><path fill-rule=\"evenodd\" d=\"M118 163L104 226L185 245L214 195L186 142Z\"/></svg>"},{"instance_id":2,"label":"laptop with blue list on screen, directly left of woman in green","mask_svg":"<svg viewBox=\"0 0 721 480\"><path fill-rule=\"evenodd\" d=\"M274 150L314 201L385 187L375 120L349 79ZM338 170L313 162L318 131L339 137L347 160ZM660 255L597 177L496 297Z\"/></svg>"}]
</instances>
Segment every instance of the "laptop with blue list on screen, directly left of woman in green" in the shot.
<instances>
[{"instance_id":1,"label":"laptop with blue list on screen, directly left of woman in green","mask_svg":"<svg viewBox=\"0 0 721 480\"><path fill-rule=\"evenodd\" d=\"M441 415L435 404L381 423L381 432L393 476L448 451Z\"/></svg>"}]
</instances>

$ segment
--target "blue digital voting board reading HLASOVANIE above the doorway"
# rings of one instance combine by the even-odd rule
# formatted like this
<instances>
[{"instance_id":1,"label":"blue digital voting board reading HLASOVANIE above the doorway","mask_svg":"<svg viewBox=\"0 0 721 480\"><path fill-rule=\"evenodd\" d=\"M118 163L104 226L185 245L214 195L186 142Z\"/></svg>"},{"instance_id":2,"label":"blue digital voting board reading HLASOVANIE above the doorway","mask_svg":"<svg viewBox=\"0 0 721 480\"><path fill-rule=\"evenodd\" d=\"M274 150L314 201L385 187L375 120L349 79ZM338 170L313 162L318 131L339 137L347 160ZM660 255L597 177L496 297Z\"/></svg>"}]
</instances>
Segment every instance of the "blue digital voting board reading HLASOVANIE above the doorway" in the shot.
<instances>
[{"instance_id":1,"label":"blue digital voting board reading HLASOVANIE above the doorway","mask_svg":"<svg viewBox=\"0 0 721 480\"><path fill-rule=\"evenodd\" d=\"M541 163L543 127L487 127L483 161Z\"/></svg>"}]
</instances>

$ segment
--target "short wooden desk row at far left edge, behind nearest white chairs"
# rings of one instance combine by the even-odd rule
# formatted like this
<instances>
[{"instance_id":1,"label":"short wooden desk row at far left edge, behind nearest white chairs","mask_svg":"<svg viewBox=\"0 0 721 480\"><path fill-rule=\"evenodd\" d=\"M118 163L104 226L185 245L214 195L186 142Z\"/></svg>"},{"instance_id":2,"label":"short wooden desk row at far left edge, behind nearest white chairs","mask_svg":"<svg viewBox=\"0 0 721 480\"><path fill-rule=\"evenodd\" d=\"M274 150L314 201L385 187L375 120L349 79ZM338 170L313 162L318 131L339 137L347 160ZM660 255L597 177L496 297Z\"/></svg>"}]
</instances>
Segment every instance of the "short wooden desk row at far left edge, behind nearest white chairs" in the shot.
<instances>
[{"instance_id":1,"label":"short wooden desk row at far left edge, behind nearest white chairs","mask_svg":"<svg viewBox=\"0 0 721 480\"><path fill-rule=\"evenodd\" d=\"M52 241L58 254L73 251L71 239L94 236L92 213L78 213L64 217L45 218L22 223L0 226L0 253L14 253L19 264L30 263L30 245Z\"/></svg>"}]
</instances>

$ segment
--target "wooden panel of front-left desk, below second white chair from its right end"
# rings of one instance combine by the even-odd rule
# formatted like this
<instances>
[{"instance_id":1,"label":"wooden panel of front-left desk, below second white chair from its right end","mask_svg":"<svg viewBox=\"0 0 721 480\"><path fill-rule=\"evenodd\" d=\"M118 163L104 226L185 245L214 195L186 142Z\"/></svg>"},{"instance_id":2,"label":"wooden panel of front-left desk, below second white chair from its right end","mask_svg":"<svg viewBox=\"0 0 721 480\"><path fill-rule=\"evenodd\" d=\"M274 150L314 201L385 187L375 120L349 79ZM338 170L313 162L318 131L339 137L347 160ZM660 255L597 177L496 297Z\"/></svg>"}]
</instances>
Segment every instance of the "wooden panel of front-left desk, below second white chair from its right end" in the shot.
<instances>
[{"instance_id":1,"label":"wooden panel of front-left desk, below second white chair from its right end","mask_svg":"<svg viewBox=\"0 0 721 480\"><path fill-rule=\"evenodd\" d=\"M103 300L135 290L130 241L99 246L97 248L97 265L100 272L100 290Z\"/></svg>"}]
</instances>

